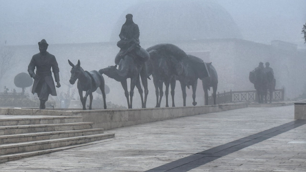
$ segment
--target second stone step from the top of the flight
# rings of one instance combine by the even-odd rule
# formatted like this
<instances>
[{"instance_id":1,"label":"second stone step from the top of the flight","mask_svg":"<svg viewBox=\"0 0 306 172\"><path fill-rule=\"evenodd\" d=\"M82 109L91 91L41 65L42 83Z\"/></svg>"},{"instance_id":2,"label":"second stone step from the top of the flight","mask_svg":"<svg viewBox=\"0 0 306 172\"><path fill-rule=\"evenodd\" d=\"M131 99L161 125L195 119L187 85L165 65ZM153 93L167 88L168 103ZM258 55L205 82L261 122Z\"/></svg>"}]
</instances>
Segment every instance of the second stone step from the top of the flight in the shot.
<instances>
[{"instance_id":1,"label":"second stone step from the top of the flight","mask_svg":"<svg viewBox=\"0 0 306 172\"><path fill-rule=\"evenodd\" d=\"M0 126L0 135L91 129L93 122Z\"/></svg>"}]
</instances>

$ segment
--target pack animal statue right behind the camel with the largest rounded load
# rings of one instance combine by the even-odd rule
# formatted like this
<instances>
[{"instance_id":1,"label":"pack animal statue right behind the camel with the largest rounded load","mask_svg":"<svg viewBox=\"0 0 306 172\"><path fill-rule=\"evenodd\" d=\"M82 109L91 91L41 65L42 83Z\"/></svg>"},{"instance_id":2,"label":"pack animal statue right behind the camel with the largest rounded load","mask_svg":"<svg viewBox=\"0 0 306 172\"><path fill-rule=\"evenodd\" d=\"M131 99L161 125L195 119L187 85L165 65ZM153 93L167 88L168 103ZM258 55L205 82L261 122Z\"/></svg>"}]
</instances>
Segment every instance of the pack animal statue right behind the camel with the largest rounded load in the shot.
<instances>
[{"instance_id":1,"label":"pack animal statue right behind the camel with the largest rounded load","mask_svg":"<svg viewBox=\"0 0 306 172\"><path fill-rule=\"evenodd\" d=\"M183 59L183 64L184 64L184 75L178 76L176 79L180 81L181 84L181 89L183 93L183 106L186 106L186 86L189 89L189 86L192 86L192 105L196 106L196 87L198 84L198 79L200 80L205 80L205 78L209 77L209 72L207 70L207 65L206 63L203 62L202 59L189 55L187 58ZM217 76L217 75L214 75ZM207 88L209 88L209 84L211 82L211 78L207 78L207 81L203 85L203 90L204 92L207 92ZM218 78L216 85L218 84ZM205 86L205 87L204 87ZM217 86L216 86L217 88ZM216 90L216 89L215 89ZM208 96L208 93L207 93ZM208 99L208 98L207 98ZM205 101L207 102L207 101Z\"/></svg>"}]
</instances>

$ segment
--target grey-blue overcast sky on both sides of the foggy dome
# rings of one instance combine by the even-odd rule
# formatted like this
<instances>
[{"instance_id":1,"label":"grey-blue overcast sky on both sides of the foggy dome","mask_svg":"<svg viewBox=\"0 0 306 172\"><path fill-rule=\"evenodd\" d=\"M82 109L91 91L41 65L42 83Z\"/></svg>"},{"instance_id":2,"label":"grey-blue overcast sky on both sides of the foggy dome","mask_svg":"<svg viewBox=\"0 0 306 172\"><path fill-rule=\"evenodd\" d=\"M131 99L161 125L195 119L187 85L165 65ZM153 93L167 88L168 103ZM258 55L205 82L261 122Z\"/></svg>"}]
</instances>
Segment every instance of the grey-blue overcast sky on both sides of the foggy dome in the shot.
<instances>
[{"instance_id":1,"label":"grey-blue overcast sky on both sides of the foggy dome","mask_svg":"<svg viewBox=\"0 0 306 172\"><path fill-rule=\"evenodd\" d=\"M49 44L108 42L121 14L140 2L144 0L0 0L0 43L33 45L42 38ZM216 2L232 15L246 40L304 43L300 33L306 0Z\"/></svg>"}]
</instances>

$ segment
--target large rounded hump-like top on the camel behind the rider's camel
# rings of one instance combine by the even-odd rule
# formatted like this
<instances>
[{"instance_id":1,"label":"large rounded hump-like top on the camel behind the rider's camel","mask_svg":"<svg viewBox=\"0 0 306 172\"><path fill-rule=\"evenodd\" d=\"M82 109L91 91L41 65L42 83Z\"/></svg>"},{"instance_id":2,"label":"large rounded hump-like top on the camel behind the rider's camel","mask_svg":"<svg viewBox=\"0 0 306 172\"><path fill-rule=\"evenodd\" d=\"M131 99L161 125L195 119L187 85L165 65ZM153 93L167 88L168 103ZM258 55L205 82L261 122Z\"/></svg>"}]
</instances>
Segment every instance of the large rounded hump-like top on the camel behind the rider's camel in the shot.
<instances>
[{"instance_id":1,"label":"large rounded hump-like top on the camel behind the rider's camel","mask_svg":"<svg viewBox=\"0 0 306 172\"><path fill-rule=\"evenodd\" d=\"M147 48L146 50L147 52L151 50L157 50L159 53L161 53L164 56L171 55L180 60L187 57L185 51L183 51L181 48L177 47L176 45L170 43L156 44L152 47Z\"/></svg>"}]
</instances>

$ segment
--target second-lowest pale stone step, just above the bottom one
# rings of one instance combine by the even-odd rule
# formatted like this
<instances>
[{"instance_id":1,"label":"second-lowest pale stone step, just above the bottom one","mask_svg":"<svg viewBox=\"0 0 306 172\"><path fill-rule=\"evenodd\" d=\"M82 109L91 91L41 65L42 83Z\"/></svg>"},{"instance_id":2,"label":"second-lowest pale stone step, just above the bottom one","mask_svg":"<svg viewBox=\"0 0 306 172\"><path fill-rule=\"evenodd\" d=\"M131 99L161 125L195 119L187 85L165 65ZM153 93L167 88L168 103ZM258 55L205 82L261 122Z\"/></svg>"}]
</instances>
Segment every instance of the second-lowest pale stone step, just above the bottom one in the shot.
<instances>
[{"instance_id":1,"label":"second-lowest pale stone step, just above the bottom one","mask_svg":"<svg viewBox=\"0 0 306 172\"><path fill-rule=\"evenodd\" d=\"M75 136L58 139L38 140L23 143L0 145L0 155L17 154L21 152L39 151L45 149L65 147L73 144L102 140L114 137L114 134L93 134L89 136Z\"/></svg>"}]
</instances>

